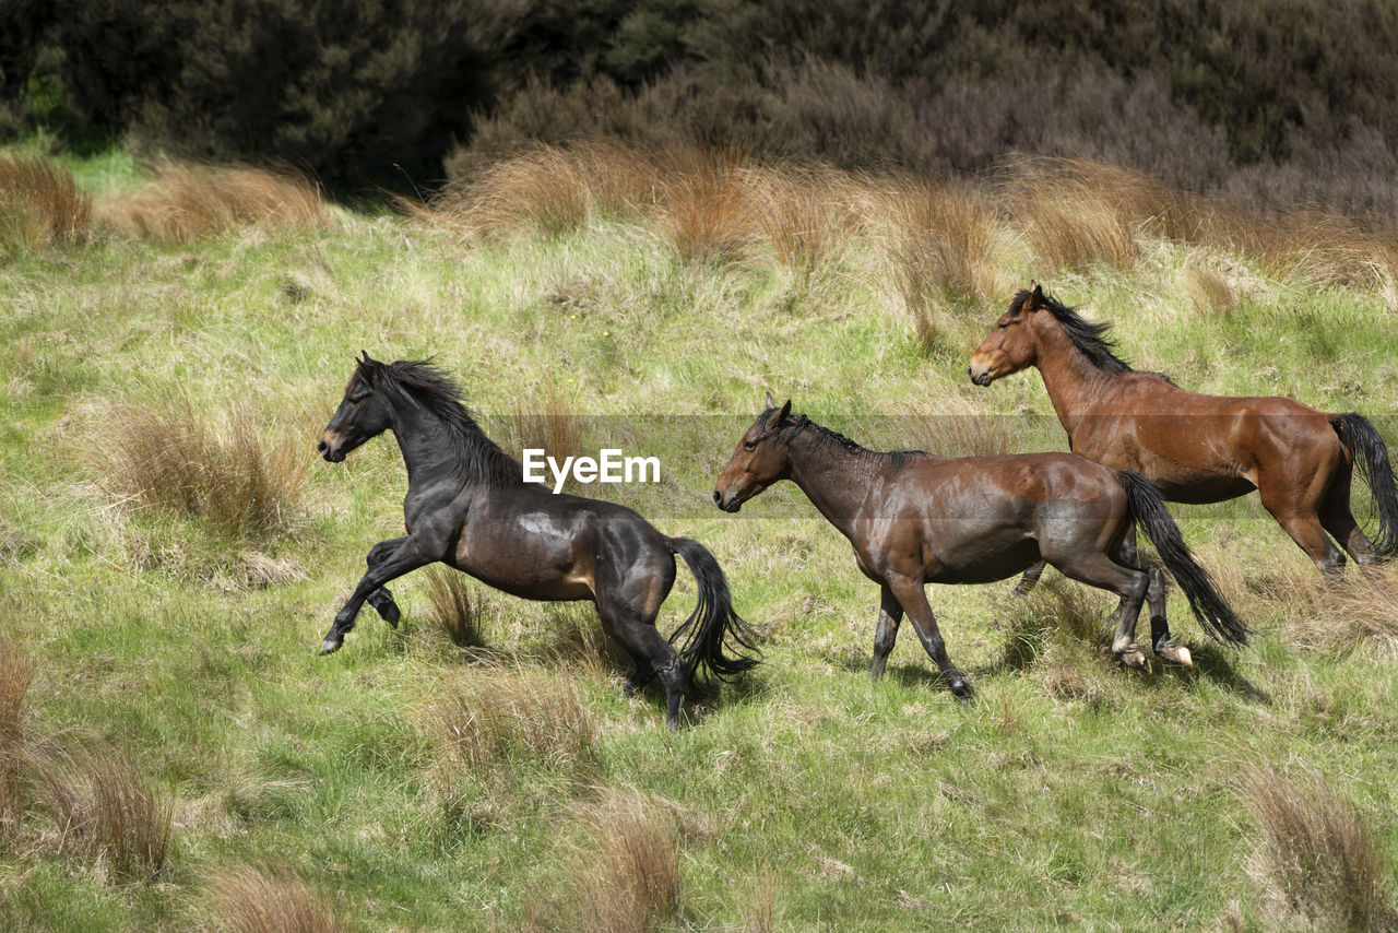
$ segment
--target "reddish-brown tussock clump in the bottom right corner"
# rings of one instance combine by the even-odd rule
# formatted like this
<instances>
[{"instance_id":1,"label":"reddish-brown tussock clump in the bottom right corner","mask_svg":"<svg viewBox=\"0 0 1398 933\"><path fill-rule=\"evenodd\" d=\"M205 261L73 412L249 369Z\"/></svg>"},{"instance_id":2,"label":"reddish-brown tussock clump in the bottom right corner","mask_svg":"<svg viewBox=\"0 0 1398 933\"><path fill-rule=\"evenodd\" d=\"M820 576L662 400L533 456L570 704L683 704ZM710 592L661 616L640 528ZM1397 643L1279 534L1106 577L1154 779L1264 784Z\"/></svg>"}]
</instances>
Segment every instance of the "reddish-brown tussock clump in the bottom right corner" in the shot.
<instances>
[{"instance_id":1,"label":"reddish-brown tussock clump in the bottom right corner","mask_svg":"<svg viewBox=\"0 0 1398 933\"><path fill-rule=\"evenodd\" d=\"M1293 778L1271 765L1246 769L1241 795L1285 913L1331 929L1394 929L1387 876L1349 800L1318 776Z\"/></svg>"}]
</instances>

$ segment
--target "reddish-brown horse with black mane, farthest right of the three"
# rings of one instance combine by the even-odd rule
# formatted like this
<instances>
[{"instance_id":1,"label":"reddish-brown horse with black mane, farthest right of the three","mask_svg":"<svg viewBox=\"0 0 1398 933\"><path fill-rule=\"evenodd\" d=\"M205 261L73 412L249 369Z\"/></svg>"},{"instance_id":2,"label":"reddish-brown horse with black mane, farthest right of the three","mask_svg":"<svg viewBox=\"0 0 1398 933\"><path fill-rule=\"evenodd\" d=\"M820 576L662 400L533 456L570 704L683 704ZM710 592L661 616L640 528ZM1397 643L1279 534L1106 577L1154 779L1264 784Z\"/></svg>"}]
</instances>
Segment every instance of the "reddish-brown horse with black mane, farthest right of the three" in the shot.
<instances>
[{"instance_id":1,"label":"reddish-brown horse with black mane, farthest right of the three","mask_svg":"<svg viewBox=\"0 0 1398 933\"><path fill-rule=\"evenodd\" d=\"M1068 449L1141 473L1169 501L1222 502L1257 490L1262 508L1327 579L1343 571L1341 547L1360 565L1398 557L1398 484L1367 418L1276 396L1188 392L1162 373L1132 369L1116 355L1109 327L1030 283L976 348L967 375L988 386L1037 366ZM1378 515L1373 541L1349 511L1356 464ZM1042 571L1032 568L1021 589Z\"/></svg>"}]
</instances>

